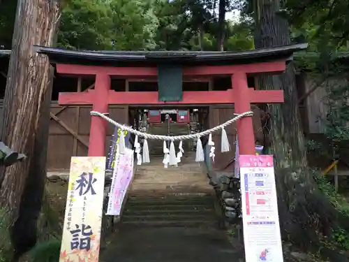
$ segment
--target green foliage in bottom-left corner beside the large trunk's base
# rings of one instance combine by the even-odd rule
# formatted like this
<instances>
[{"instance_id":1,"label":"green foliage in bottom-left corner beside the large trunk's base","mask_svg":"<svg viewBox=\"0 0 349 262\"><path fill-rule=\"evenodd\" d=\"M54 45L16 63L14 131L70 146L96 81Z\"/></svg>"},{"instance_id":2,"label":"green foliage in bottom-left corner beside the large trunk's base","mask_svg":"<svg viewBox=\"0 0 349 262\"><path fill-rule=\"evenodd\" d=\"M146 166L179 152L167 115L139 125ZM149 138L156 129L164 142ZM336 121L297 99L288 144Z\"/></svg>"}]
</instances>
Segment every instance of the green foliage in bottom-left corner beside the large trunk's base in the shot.
<instances>
[{"instance_id":1,"label":"green foliage in bottom-left corner beside the large trunk's base","mask_svg":"<svg viewBox=\"0 0 349 262\"><path fill-rule=\"evenodd\" d=\"M0 208L0 262L8 262L12 259L13 248L9 229L10 220L6 210Z\"/></svg>"}]
</instances>

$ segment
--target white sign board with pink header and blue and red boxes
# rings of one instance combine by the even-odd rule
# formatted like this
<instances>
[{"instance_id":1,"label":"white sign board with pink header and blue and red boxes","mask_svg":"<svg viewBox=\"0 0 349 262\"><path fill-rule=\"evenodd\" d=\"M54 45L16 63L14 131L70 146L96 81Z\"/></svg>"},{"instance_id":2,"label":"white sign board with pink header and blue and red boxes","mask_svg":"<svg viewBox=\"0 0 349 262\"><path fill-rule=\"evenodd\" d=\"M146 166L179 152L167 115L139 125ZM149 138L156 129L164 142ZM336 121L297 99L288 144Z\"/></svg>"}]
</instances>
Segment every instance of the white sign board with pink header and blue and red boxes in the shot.
<instances>
[{"instance_id":1,"label":"white sign board with pink header and blue and red boxes","mask_svg":"<svg viewBox=\"0 0 349 262\"><path fill-rule=\"evenodd\" d=\"M240 155L246 262L283 262L273 156Z\"/></svg>"}]
</instances>

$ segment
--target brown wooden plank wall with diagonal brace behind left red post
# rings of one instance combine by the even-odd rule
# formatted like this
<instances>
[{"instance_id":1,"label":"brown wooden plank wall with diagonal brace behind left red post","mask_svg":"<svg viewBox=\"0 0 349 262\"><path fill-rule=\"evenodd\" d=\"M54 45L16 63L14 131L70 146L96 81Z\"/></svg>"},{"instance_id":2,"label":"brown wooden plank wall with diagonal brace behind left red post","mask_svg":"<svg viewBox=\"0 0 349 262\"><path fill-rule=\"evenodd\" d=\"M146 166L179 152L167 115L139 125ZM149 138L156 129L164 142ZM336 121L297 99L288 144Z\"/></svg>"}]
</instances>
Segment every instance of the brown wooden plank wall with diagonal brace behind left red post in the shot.
<instances>
[{"instance_id":1,"label":"brown wooden plank wall with diagonal brace behind left red post","mask_svg":"<svg viewBox=\"0 0 349 262\"><path fill-rule=\"evenodd\" d=\"M84 91L93 89L94 84ZM47 170L66 172L70 158L87 156L92 108L89 105L60 106L57 101L51 104L50 136L47 148ZM117 122L128 124L128 106L110 105L109 116ZM108 125L105 140L105 155L109 152L110 138L114 126Z\"/></svg>"}]
</instances>

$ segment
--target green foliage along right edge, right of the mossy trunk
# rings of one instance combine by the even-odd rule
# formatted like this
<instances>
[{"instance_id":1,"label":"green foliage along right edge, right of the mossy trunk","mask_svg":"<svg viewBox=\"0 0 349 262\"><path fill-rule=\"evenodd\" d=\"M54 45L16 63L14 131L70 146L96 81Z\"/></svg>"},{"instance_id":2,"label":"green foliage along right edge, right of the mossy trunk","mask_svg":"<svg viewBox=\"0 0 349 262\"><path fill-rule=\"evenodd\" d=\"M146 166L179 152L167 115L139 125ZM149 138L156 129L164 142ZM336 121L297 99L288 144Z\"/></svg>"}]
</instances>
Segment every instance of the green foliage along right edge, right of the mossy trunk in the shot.
<instances>
[{"instance_id":1,"label":"green foliage along right edge, right of the mossy trunk","mask_svg":"<svg viewBox=\"0 0 349 262\"><path fill-rule=\"evenodd\" d=\"M318 49L320 50L320 47ZM327 105L327 113L320 121L325 123L325 136L329 143L315 145L314 141L309 141L308 149L327 152L330 159L338 156L339 150L348 148L346 144L349 140L349 78L346 57L348 52L331 50L328 45L320 52L299 52L296 56L298 69L306 71L314 80L314 85L321 86L320 88L325 88L326 91L322 103Z\"/></svg>"}]
</instances>

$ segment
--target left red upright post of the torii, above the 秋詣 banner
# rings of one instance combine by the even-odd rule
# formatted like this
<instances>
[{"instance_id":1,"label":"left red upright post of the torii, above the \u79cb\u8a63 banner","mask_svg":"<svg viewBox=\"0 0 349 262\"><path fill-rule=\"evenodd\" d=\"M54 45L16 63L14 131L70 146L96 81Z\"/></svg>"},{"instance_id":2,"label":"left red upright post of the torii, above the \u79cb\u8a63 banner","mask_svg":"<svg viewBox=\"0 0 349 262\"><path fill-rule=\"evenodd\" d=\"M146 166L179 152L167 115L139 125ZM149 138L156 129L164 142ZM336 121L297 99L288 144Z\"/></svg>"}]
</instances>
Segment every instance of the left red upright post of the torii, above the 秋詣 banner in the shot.
<instances>
[{"instance_id":1,"label":"left red upright post of the torii, above the \u79cb\u8a63 banner","mask_svg":"<svg viewBox=\"0 0 349 262\"><path fill-rule=\"evenodd\" d=\"M110 76L104 73L96 75L94 85L93 110L101 113L108 112L108 93L110 90ZM89 132L89 157L105 157L105 138L107 136L107 122L101 117L91 116Z\"/></svg>"}]
</instances>

